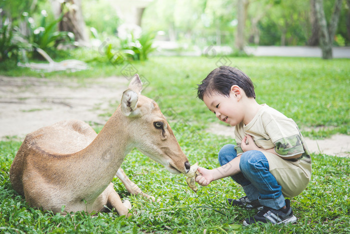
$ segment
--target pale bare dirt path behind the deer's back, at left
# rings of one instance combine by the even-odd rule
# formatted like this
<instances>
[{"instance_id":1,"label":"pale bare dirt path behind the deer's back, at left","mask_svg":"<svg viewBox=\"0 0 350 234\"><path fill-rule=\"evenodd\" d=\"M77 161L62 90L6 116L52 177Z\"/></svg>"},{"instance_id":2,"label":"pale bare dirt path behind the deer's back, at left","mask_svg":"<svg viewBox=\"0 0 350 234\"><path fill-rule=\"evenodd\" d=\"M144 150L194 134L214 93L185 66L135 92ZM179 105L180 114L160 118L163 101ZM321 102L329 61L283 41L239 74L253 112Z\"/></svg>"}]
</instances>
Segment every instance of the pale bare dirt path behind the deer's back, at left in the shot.
<instances>
[{"instance_id":1,"label":"pale bare dirt path behind the deer's back, at left","mask_svg":"<svg viewBox=\"0 0 350 234\"><path fill-rule=\"evenodd\" d=\"M127 88L124 77L71 79L0 76L0 140L24 136L61 120L103 126Z\"/></svg>"}]
</instances>

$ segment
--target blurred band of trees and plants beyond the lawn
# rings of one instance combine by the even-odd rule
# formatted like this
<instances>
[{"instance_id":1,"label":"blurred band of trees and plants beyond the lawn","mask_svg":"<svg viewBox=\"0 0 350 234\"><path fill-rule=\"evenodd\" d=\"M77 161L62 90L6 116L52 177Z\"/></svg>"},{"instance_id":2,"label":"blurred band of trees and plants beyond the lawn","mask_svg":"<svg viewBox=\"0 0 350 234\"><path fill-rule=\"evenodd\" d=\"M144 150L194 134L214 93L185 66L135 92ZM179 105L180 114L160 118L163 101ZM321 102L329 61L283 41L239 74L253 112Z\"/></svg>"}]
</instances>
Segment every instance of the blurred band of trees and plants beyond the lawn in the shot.
<instances>
[{"instance_id":1,"label":"blurred band of trees and plants beyond the lawn","mask_svg":"<svg viewBox=\"0 0 350 234\"><path fill-rule=\"evenodd\" d=\"M1 0L0 61L75 47L116 64L213 48L230 56L348 57L349 7L349 0Z\"/></svg>"}]
</instances>

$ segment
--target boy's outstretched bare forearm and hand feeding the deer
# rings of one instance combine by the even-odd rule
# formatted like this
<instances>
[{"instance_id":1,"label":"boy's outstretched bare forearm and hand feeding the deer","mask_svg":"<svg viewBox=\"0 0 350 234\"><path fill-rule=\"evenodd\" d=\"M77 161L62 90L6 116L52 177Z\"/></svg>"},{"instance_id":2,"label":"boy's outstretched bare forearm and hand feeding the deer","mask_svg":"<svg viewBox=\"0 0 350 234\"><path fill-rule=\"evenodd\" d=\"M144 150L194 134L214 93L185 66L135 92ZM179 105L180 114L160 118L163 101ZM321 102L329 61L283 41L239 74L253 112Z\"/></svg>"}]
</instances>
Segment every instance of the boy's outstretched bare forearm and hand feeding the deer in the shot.
<instances>
[{"instance_id":1,"label":"boy's outstretched bare forearm and hand feeding the deer","mask_svg":"<svg viewBox=\"0 0 350 234\"><path fill-rule=\"evenodd\" d=\"M201 173L201 175L197 175L195 177L195 181L201 186L206 186L214 180L237 174L240 172L239 161L240 155L235 157L227 164L211 170L205 169L203 167L198 167L198 171Z\"/></svg>"}]
</instances>

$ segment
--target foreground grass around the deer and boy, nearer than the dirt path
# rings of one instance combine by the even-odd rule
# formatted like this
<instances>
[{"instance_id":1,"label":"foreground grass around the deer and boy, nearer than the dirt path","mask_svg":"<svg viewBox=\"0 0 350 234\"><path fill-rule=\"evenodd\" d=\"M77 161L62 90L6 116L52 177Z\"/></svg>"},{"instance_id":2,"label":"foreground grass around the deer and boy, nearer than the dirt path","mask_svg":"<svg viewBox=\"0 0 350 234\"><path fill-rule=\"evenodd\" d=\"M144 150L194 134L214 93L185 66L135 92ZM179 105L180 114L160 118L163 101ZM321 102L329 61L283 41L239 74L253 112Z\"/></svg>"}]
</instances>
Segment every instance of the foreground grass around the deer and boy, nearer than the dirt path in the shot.
<instances>
[{"instance_id":1,"label":"foreground grass around the deer and boy, nearer than the dirt path","mask_svg":"<svg viewBox=\"0 0 350 234\"><path fill-rule=\"evenodd\" d=\"M188 140L178 135L179 143L191 162L201 166L218 166L216 152L228 138L202 134L202 138ZM88 232L88 233L139 233L139 232L220 232L272 233L272 232L348 232L350 231L350 158L312 155L312 179L299 196L291 199L296 224L241 225L243 219L256 211L229 207L226 198L240 197L242 189L230 178L212 182L207 187L198 185L194 194L185 184L184 176L171 175L161 165L133 150L125 159L125 173L140 188L152 194L159 202L149 202L140 196L129 195L122 183L114 179L114 187L129 199L135 214L130 218L116 213L98 213L91 216L78 212L62 216L31 208L11 188L8 173L11 161L20 142L0 142L0 230L3 232Z\"/></svg>"}]
</instances>

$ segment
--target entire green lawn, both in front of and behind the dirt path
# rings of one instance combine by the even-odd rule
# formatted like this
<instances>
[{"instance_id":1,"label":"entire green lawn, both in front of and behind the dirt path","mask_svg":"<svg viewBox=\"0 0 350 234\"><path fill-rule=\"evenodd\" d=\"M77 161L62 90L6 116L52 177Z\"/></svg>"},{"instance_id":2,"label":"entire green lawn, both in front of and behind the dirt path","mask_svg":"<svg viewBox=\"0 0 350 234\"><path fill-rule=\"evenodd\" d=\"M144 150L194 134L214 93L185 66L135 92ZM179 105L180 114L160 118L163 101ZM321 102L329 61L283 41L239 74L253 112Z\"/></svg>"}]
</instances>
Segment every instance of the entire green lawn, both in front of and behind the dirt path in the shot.
<instances>
[{"instance_id":1,"label":"entire green lawn, both in front of and behind the dirt path","mask_svg":"<svg viewBox=\"0 0 350 234\"><path fill-rule=\"evenodd\" d=\"M207 168L219 166L218 150L224 144L234 142L228 137L205 131L207 125L217 120L195 98L196 84L218 65L230 65L244 71L255 85L257 102L266 103L293 118L304 135L322 138L334 133L350 134L350 60L151 57L146 62L113 66L96 60L99 55L93 51L71 51L65 59L70 56L88 61L90 69L76 73L35 73L28 69L17 69L7 63L0 65L0 75L62 80L74 77L83 84L86 79L137 72L144 84L147 84L143 94L157 101L190 162L198 161L200 166ZM315 127L321 130L312 130ZM144 192L159 198L159 202L149 202L140 196L129 195L123 184L114 179L115 189L133 205L132 217L119 217L115 212L97 213L94 216L78 212L74 216L62 216L31 208L12 190L8 180L10 164L20 143L16 139L0 142L0 232L350 231L350 158L311 155L311 182L299 196L291 198L297 223L244 227L241 225L242 220L254 215L256 211L233 208L226 204L226 198L243 195L243 190L230 178L214 181L207 187L198 185L195 194L185 184L184 176L170 174L136 149L127 155L123 169Z\"/></svg>"}]
</instances>

